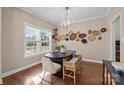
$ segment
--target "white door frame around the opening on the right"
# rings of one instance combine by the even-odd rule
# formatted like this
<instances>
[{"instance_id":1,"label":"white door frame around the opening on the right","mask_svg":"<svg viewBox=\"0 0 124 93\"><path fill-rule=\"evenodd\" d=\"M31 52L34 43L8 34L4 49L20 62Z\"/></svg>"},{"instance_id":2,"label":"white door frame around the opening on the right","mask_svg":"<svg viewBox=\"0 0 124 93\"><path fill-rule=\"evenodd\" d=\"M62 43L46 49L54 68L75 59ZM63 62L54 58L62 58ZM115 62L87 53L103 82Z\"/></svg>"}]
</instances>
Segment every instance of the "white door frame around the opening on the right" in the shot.
<instances>
[{"instance_id":1,"label":"white door frame around the opening on the right","mask_svg":"<svg viewBox=\"0 0 124 93\"><path fill-rule=\"evenodd\" d=\"M115 46L112 46L113 44L113 29L112 29L112 24L113 24L113 22L118 18L118 17L120 17L119 19L120 19L120 40L121 40L121 13L119 12L119 13L117 13L113 18L112 18L112 20L111 20L111 22L110 22L110 60L113 60L113 61L115 61L115 52L114 52L114 57L113 57L113 50L115 51ZM115 35L115 32L114 32L114 35ZM115 37L115 36L114 36ZM115 39L115 38L114 38ZM114 45L115 45L115 42L114 42ZM120 46L121 46L121 41L120 41ZM121 48L120 48L120 51L121 51ZM120 56L121 57L121 56ZM120 58L121 59L121 58Z\"/></svg>"}]
</instances>

